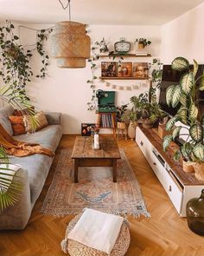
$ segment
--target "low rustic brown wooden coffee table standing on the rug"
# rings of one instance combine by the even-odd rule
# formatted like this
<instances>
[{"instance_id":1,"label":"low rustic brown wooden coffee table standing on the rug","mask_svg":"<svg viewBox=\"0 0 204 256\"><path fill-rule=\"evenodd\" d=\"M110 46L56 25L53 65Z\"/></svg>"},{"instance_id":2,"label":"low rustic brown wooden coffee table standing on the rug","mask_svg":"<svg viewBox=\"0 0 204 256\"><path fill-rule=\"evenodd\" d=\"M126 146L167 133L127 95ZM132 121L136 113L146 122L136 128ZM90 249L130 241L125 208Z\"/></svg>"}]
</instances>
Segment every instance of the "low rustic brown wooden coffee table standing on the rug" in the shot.
<instances>
[{"instance_id":1,"label":"low rustic brown wooden coffee table standing on the rug","mask_svg":"<svg viewBox=\"0 0 204 256\"><path fill-rule=\"evenodd\" d=\"M91 137L76 137L71 158L74 160L74 182L78 182L79 167L112 167L113 182L117 182L117 160L121 158L113 136L99 135L100 149L92 149Z\"/></svg>"}]
</instances>

